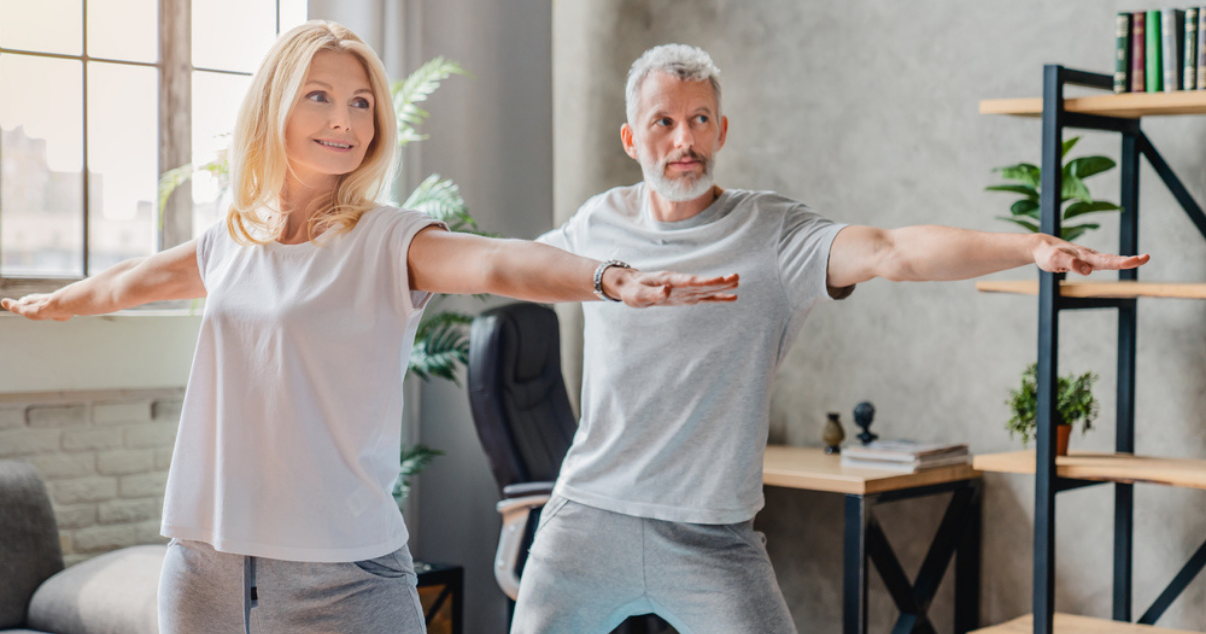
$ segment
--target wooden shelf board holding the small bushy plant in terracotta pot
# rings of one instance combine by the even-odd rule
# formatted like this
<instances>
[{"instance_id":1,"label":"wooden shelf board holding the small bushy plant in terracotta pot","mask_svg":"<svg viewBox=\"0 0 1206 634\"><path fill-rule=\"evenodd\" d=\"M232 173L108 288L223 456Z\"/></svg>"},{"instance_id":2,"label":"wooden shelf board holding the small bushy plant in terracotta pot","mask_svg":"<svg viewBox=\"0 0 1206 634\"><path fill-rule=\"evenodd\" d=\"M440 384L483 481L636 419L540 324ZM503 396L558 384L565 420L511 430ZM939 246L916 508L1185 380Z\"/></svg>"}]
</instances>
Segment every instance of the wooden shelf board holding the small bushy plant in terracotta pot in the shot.
<instances>
[{"instance_id":1,"label":"wooden shelf board holding the small bushy plant in terracotta pot","mask_svg":"<svg viewBox=\"0 0 1206 634\"><path fill-rule=\"evenodd\" d=\"M1035 452L985 453L976 456L973 465L980 471L1034 474ZM1073 480L1206 489L1206 460L1073 451L1066 457L1055 458L1055 472L1060 477Z\"/></svg>"}]
</instances>

